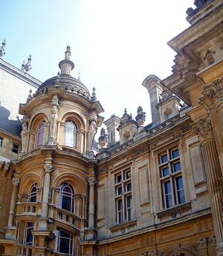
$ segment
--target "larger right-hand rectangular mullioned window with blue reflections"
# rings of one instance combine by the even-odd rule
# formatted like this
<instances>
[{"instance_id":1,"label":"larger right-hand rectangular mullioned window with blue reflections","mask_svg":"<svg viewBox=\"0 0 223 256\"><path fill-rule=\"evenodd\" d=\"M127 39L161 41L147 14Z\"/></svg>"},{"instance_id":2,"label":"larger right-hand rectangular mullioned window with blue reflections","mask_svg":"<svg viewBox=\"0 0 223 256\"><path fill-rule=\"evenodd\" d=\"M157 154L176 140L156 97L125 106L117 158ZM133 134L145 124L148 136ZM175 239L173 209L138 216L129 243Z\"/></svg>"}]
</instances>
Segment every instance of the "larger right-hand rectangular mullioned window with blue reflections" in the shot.
<instances>
[{"instance_id":1,"label":"larger right-hand rectangular mullioned window with blue reflections","mask_svg":"<svg viewBox=\"0 0 223 256\"><path fill-rule=\"evenodd\" d=\"M160 154L159 160L164 208L184 203L184 184L178 149Z\"/></svg>"}]
</instances>

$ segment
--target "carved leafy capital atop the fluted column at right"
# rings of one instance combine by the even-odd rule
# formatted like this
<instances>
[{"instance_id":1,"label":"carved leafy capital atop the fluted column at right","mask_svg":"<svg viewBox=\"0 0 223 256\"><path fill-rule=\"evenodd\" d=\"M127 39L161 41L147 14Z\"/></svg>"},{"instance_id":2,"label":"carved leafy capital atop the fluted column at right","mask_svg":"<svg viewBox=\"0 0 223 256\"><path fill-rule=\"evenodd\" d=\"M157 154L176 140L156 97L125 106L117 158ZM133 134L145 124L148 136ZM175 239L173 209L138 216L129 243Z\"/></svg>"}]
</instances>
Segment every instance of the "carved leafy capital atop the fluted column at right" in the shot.
<instances>
[{"instance_id":1,"label":"carved leafy capital atop the fluted column at right","mask_svg":"<svg viewBox=\"0 0 223 256\"><path fill-rule=\"evenodd\" d=\"M190 124L194 134L198 135L200 141L213 138L213 131L210 119L199 119Z\"/></svg>"}]
</instances>

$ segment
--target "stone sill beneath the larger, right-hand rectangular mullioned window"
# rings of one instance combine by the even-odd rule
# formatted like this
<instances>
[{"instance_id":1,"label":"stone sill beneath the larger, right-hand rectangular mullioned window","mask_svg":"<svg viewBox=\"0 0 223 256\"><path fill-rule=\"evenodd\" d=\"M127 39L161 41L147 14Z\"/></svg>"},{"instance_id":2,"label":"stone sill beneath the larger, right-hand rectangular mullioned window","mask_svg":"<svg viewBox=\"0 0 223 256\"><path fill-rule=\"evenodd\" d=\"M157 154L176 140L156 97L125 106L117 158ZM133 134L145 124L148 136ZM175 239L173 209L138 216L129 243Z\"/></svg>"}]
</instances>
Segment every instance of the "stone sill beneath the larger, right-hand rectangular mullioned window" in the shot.
<instances>
[{"instance_id":1,"label":"stone sill beneath the larger, right-hand rectangular mullioned window","mask_svg":"<svg viewBox=\"0 0 223 256\"><path fill-rule=\"evenodd\" d=\"M159 219L161 219L163 216L172 216L172 218L175 219L177 216L177 213L183 213L184 211L191 209L191 202L185 202L181 205L175 205L172 207L169 207L164 210L160 210L156 213Z\"/></svg>"}]
</instances>

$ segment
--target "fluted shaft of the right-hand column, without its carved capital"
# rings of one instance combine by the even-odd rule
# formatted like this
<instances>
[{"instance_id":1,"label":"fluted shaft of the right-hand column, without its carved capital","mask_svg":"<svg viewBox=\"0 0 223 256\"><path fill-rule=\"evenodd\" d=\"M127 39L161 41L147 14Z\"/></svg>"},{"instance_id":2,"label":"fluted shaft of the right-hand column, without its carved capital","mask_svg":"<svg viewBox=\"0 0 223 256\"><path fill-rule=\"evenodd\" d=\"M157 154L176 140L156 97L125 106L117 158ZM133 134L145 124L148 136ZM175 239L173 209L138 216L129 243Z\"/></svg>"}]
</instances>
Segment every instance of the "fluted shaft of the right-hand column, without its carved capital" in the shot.
<instances>
[{"instance_id":1,"label":"fluted shaft of the right-hand column, without its carved capital","mask_svg":"<svg viewBox=\"0 0 223 256\"><path fill-rule=\"evenodd\" d=\"M201 144L204 154L204 165L206 166L207 172L207 186L210 193L210 204L213 211L216 240L218 244L221 244L223 243L222 172L214 140L204 140Z\"/></svg>"}]
</instances>

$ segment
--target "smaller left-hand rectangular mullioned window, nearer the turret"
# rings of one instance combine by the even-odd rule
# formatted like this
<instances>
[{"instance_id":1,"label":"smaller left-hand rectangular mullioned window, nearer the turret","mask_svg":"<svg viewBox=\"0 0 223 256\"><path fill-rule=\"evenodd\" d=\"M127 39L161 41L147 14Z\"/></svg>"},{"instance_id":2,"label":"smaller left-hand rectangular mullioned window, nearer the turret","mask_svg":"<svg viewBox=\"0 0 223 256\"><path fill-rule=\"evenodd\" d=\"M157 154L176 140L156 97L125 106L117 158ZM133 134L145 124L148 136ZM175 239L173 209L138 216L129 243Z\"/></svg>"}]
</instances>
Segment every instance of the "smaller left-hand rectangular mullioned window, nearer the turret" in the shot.
<instances>
[{"instance_id":1,"label":"smaller left-hand rectangular mullioned window, nearer the turret","mask_svg":"<svg viewBox=\"0 0 223 256\"><path fill-rule=\"evenodd\" d=\"M117 224L132 220L131 171L125 170L114 175L114 191Z\"/></svg>"}]
</instances>

